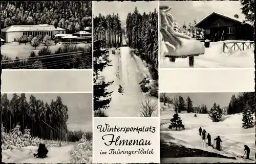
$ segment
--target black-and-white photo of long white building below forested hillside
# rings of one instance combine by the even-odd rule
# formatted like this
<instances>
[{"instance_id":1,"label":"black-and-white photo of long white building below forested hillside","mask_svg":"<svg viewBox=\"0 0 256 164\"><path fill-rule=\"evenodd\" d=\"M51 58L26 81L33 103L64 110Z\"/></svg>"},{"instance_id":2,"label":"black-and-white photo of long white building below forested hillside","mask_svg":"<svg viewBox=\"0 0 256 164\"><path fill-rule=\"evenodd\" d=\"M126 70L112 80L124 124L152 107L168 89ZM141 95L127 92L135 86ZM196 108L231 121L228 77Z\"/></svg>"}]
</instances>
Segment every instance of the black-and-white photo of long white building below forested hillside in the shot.
<instances>
[{"instance_id":1,"label":"black-and-white photo of long white building below forested hillside","mask_svg":"<svg viewBox=\"0 0 256 164\"><path fill-rule=\"evenodd\" d=\"M3 69L92 69L91 1L2 1Z\"/></svg>"}]
</instances>

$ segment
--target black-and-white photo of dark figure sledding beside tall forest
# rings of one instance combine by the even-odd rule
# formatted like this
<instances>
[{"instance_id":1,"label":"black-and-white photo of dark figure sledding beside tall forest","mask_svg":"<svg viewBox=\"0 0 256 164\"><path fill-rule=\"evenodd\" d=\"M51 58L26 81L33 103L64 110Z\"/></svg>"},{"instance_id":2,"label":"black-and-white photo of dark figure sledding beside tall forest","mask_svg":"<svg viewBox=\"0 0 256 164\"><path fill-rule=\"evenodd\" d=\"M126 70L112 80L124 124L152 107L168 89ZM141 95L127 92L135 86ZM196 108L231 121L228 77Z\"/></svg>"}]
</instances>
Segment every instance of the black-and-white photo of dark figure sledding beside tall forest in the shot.
<instances>
[{"instance_id":1,"label":"black-and-white photo of dark figure sledding beside tall forest","mask_svg":"<svg viewBox=\"0 0 256 164\"><path fill-rule=\"evenodd\" d=\"M1 94L2 161L92 163L92 93Z\"/></svg>"}]
</instances>

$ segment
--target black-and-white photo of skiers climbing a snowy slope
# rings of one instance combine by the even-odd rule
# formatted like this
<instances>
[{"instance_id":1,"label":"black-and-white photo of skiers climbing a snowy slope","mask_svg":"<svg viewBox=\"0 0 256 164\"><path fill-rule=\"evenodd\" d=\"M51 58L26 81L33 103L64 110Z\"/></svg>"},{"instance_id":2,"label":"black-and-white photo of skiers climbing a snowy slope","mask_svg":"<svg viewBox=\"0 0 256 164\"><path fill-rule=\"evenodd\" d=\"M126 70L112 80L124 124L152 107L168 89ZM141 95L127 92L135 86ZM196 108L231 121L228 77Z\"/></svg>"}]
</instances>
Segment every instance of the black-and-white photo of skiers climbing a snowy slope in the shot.
<instances>
[{"instance_id":1,"label":"black-and-white photo of skiers climbing a snowy slope","mask_svg":"<svg viewBox=\"0 0 256 164\"><path fill-rule=\"evenodd\" d=\"M161 163L255 163L254 92L160 93Z\"/></svg>"}]
</instances>

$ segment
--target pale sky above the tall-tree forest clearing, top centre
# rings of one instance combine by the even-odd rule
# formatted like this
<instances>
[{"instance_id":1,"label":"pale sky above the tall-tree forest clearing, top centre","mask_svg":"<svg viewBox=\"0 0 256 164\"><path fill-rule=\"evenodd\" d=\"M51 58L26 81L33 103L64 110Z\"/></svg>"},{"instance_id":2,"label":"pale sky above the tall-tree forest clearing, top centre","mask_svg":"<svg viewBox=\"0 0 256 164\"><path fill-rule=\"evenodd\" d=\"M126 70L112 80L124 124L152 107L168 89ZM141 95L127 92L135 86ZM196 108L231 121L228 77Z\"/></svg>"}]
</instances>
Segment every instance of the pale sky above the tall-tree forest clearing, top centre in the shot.
<instances>
[{"instance_id":1,"label":"pale sky above the tall-tree forest clearing, top centre","mask_svg":"<svg viewBox=\"0 0 256 164\"><path fill-rule=\"evenodd\" d=\"M158 2L151 1L151 2L108 2L108 1L100 1L100 2L93 2L93 15L98 16L99 13L101 15L109 15L109 14L117 14L120 16L120 20L126 20L127 14L129 12L134 12L135 7L137 7L139 13L149 13L153 12L155 9L158 10Z\"/></svg>"}]
</instances>

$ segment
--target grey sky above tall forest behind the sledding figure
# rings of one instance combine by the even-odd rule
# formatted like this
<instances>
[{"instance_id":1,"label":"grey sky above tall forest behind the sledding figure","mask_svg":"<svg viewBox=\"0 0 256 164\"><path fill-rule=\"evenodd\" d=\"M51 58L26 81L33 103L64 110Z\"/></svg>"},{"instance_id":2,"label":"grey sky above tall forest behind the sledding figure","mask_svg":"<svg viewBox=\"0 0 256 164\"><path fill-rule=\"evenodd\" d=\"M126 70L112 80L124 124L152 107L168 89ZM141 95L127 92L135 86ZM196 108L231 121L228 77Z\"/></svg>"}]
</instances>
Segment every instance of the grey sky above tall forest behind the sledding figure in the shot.
<instances>
[{"instance_id":1,"label":"grey sky above tall forest behind the sledding figure","mask_svg":"<svg viewBox=\"0 0 256 164\"><path fill-rule=\"evenodd\" d=\"M17 94L18 96L20 94ZM27 101L31 94L26 94ZM33 94L36 99L43 100L45 103L51 103L52 99L56 100L60 96L63 104L68 106L68 129L92 131L92 94L91 93L47 93ZM12 94L7 94L8 99Z\"/></svg>"}]
</instances>

